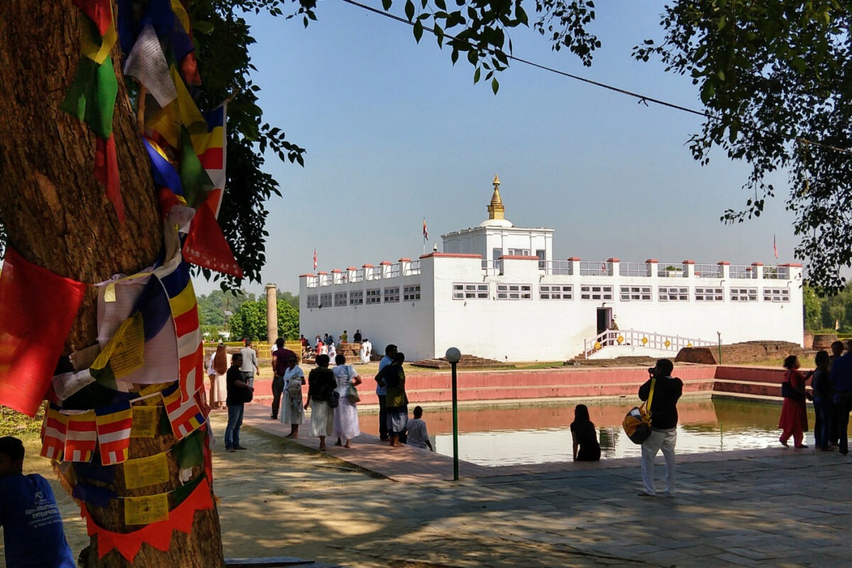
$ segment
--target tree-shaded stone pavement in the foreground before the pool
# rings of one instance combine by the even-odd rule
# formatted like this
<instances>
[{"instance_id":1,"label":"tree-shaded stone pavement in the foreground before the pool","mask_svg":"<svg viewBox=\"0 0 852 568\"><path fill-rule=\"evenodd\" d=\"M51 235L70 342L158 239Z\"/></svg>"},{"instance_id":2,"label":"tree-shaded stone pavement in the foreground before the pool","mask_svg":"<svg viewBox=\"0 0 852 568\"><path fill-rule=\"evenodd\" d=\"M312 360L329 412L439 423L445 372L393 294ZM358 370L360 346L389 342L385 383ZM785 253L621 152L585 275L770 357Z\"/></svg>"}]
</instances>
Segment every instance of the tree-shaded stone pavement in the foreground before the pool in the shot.
<instances>
[{"instance_id":1,"label":"tree-shaded stone pavement in the foreground before the pool","mask_svg":"<svg viewBox=\"0 0 852 568\"><path fill-rule=\"evenodd\" d=\"M221 438L226 417L211 416ZM679 456L676 496L643 498L637 458L463 464L453 482L452 460L425 450L362 435L320 452L307 424L300 439L286 432L250 404L250 450L216 446L227 556L359 568L852 565L852 458L836 452Z\"/></svg>"}]
</instances>

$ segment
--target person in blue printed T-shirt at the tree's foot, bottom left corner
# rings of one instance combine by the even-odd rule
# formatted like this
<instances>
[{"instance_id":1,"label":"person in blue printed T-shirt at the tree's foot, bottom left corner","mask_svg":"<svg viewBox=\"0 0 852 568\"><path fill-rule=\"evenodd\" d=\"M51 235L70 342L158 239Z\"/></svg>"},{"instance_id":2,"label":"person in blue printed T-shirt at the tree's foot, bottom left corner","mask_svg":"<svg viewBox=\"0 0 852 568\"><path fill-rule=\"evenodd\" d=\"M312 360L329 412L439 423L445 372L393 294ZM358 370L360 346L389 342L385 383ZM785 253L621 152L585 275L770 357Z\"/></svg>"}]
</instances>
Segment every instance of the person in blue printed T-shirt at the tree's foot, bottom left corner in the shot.
<instances>
[{"instance_id":1,"label":"person in blue printed T-shirt at the tree's foot, bottom left corner","mask_svg":"<svg viewBox=\"0 0 852 568\"><path fill-rule=\"evenodd\" d=\"M62 515L47 479L24 475L24 445L0 438L0 525L9 568L74 568Z\"/></svg>"}]
</instances>

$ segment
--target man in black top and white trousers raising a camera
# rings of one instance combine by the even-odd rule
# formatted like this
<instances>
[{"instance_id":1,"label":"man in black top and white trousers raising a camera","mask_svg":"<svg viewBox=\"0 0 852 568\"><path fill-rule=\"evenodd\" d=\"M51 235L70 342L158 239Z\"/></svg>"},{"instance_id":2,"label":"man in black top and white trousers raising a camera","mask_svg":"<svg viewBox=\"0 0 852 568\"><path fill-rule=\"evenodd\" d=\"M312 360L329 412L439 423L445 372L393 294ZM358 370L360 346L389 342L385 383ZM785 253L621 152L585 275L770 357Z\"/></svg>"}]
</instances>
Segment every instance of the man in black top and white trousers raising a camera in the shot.
<instances>
[{"instance_id":1,"label":"man in black top and white trousers raising a camera","mask_svg":"<svg viewBox=\"0 0 852 568\"><path fill-rule=\"evenodd\" d=\"M639 387L639 399L651 398L651 435L642 442L642 485L640 496L656 496L653 482L653 462L659 450L665 459L665 496L675 493L675 445L677 443L677 400L683 393L683 382L672 378L675 365L669 359L659 359L648 381ZM651 396L653 384L653 396Z\"/></svg>"}]
</instances>

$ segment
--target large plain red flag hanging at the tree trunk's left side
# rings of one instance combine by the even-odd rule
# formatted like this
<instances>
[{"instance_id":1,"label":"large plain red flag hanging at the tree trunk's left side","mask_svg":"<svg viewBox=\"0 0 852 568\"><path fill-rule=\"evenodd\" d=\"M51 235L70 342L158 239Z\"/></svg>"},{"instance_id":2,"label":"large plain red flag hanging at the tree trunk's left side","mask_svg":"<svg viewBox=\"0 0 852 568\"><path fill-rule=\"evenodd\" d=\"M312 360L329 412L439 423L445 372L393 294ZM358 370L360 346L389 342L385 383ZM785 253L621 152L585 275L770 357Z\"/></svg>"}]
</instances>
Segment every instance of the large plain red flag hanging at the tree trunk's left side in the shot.
<instances>
[{"instance_id":1,"label":"large plain red flag hanging at the tree trunk's left side","mask_svg":"<svg viewBox=\"0 0 852 568\"><path fill-rule=\"evenodd\" d=\"M34 416L83 301L85 284L6 248L0 275L0 404Z\"/></svg>"}]
</instances>

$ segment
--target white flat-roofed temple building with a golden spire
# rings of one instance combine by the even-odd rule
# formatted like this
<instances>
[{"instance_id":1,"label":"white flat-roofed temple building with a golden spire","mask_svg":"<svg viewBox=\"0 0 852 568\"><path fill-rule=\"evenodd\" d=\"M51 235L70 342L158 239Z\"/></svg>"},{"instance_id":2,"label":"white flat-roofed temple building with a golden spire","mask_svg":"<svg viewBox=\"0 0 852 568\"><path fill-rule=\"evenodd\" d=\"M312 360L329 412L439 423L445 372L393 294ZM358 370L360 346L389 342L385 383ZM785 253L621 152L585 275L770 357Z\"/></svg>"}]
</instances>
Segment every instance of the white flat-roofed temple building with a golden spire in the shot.
<instances>
[{"instance_id":1,"label":"white flat-roofed temple building with a golden spire","mask_svg":"<svg viewBox=\"0 0 852 568\"><path fill-rule=\"evenodd\" d=\"M489 359L564 360L740 341L803 342L802 265L553 259L553 229L505 218L498 177L488 219L441 235L443 252L299 277L299 326L361 330L406 359L458 347ZM618 330L610 330L613 323Z\"/></svg>"}]
</instances>

